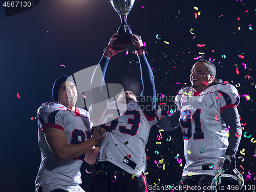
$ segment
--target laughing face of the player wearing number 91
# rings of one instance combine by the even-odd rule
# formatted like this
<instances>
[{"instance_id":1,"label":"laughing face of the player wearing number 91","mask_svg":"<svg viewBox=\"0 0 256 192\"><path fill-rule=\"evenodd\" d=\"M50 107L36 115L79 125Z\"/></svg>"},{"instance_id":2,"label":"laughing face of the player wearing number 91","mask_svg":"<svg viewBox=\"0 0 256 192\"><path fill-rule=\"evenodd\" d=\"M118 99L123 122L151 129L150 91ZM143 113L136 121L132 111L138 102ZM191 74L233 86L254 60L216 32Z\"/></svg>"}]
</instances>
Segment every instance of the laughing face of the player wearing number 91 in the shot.
<instances>
[{"instance_id":1,"label":"laughing face of the player wearing number 91","mask_svg":"<svg viewBox=\"0 0 256 192\"><path fill-rule=\"evenodd\" d=\"M207 89L214 82L214 75L208 74L206 65L207 63L199 61L191 69L190 82L196 92Z\"/></svg>"}]
</instances>

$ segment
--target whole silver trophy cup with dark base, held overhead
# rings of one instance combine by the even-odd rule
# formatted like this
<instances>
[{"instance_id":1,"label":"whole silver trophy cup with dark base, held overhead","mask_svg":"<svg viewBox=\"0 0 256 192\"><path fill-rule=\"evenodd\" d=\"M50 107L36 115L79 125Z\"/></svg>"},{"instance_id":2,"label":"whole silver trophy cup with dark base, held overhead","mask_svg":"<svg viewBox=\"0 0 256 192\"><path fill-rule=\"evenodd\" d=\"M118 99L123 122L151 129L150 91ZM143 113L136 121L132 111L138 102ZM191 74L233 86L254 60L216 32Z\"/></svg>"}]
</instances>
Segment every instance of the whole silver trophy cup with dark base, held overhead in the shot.
<instances>
[{"instance_id":1,"label":"whole silver trophy cup with dark base, held overhead","mask_svg":"<svg viewBox=\"0 0 256 192\"><path fill-rule=\"evenodd\" d=\"M114 41L113 49L134 50L135 46L132 41L133 33L127 25L127 15L133 8L135 0L111 0L111 4L117 14L120 16L121 25L117 30L117 39Z\"/></svg>"}]
</instances>

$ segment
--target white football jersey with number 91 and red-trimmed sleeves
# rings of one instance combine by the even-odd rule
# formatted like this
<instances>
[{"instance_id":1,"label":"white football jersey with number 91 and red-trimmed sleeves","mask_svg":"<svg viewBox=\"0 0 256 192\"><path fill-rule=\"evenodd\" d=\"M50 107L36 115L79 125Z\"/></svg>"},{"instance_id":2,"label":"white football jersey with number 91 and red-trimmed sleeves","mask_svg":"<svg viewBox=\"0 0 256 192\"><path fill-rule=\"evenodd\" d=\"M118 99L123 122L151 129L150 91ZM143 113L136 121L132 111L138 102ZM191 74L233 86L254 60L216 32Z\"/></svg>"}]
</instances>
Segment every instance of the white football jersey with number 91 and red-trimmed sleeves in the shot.
<instances>
[{"instance_id":1,"label":"white football jersey with number 91 and red-trimmed sleeves","mask_svg":"<svg viewBox=\"0 0 256 192\"><path fill-rule=\"evenodd\" d=\"M227 83L210 86L199 95L191 87L179 91L175 104L181 111L186 159L183 176L216 175L228 146L221 111L237 106L239 101L237 89Z\"/></svg>"}]
</instances>

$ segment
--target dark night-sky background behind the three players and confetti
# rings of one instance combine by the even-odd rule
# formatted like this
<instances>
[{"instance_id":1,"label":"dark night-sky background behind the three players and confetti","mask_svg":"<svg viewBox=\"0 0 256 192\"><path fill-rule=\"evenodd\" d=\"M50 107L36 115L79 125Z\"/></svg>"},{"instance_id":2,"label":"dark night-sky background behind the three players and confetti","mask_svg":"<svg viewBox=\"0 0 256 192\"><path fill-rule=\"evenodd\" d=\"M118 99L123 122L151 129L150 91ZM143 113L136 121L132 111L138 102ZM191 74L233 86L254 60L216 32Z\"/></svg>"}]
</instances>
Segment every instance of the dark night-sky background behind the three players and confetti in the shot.
<instances>
[{"instance_id":1,"label":"dark night-sky background behind the three players and confetti","mask_svg":"<svg viewBox=\"0 0 256 192\"><path fill-rule=\"evenodd\" d=\"M241 95L238 109L243 133L247 132L248 137L251 134L250 138L242 136L237 154L237 167L244 172L244 178L252 174L246 185L255 184L256 174L256 157L253 156L256 145L251 142L251 138L256 137L253 120L256 95L255 5L255 1L246 0L136 0L127 19L133 33L146 42L147 58L154 69L158 94L171 98L186 86L184 83L190 85L190 70L196 62L194 58L200 56L199 52L203 52L206 59L215 59L217 79L222 78L237 86ZM199 11L201 15L195 18L194 13ZM98 63L103 48L119 25L119 16L105 0L44 0L9 17L1 4L0 191L34 191L40 150L37 120L31 120L31 117L36 117L43 102L52 101L51 89L58 76L72 75ZM194 29L191 31L194 35L190 29ZM161 39L156 38L157 34ZM197 44L205 44L205 47L197 47ZM121 83L125 90L140 94L137 61L131 52L114 56L106 72L106 82ZM246 69L242 63L246 64ZM246 75L252 79L245 78ZM245 94L250 100L242 96ZM166 102L163 115L166 115L167 105L174 104L166 99L158 102ZM159 183L157 186L178 186L185 164L181 129L162 132L160 141L157 135L158 129L153 126L146 145L150 158L147 161L147 182L153 186L154 182ZM169 136L172 139L166 141ZM245 155L240 153L243 148ZM182 158L182 167L175 159L177 154ZM154 162L162 158L165 170L163 164L157 167ZM92 175L85 172L86 168L91 172L93 166L84 162L81 167L82 187L88 191Z\"/></svg>"}]
</instances>

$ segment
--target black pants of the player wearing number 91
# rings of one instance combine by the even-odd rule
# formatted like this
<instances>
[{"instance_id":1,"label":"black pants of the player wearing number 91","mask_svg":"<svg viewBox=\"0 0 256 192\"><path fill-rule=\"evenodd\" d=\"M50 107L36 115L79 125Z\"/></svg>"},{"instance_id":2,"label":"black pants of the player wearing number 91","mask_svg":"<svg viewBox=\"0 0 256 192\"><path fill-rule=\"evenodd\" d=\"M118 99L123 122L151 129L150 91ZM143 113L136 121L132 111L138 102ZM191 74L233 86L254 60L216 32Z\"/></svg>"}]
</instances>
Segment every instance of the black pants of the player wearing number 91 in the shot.
<instances>
[{"instance_id":1,"label":"black pants of the player wearing number 91","mask_svg":"<svg viewBox=\"0 0 256 192\"><path fill-rule=\"evenodd\" d=\"M183 191L210 192L211 181L212 181L212 176L210 175L183 176L180 180L180 192L183 192Z\"/></svg>"}]
</instances>

